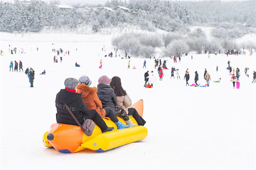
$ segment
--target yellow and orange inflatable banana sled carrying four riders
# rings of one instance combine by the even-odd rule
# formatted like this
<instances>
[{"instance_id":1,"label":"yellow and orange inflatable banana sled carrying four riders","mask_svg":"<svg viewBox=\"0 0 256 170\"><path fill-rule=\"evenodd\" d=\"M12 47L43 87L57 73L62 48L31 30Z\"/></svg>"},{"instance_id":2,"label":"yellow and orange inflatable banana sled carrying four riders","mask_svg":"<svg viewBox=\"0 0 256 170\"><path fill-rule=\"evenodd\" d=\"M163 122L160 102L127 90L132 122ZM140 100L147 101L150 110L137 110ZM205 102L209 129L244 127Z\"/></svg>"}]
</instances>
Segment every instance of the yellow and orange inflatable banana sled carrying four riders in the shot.
<instances>
[{"instance_id":1,"label":"yellow and orange inflatable banana sled carrying four riders","mask_svg":"<svg viewBox=\"0 0 256 170\"><path fill-rule=\"evenodd\" d=\"M135 108L140 116L143 115L143 100L139 100L131 107ZM75 153L85 149L103 152L145 139L148 135L147 128L139 126L132 116L129 117L131 122L137 126L117 129L116 124L110 119L103 119L107 126L115 127L115 129L102 133L99 126L95 125L91 136L86 136L79 126L54 123L50 130L44 133L43 144L61 153ZM117 118L126 125L123 119Z\"/></svg>"}]
</instances>

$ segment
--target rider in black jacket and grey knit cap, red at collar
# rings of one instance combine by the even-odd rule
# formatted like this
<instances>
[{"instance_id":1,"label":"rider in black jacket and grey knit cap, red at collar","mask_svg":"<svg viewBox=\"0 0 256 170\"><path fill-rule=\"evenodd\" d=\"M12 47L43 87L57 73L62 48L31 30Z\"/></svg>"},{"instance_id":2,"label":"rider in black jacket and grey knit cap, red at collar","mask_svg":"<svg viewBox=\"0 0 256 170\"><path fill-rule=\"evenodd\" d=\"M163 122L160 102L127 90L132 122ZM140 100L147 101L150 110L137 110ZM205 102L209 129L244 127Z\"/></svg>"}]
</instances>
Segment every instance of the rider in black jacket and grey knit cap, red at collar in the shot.
<instances>
[{"instance_id":1,"label":"rider in black jacket and grey knit cap, red at collar","mask_svg":"<svg viewBox=\"0 0 256 170\"><path fill-rule=\"evenodd\" d=\"M61 91L56 95L55 106L57 108L57 123L78 126L76 121L65 107L64 103L66 103L81 125L83 125L84 116L86 116L88 119L92 119L93 122L99 126L99 128L102 130L102 133L113 130L114 127L108 127L101 116L99 116L97 111L88 111L87 106L83 102L81 94L76 93L76 86L78 84L79 81L77 79L67 78L64 82L65 89L61 89Z\"/></svg>"}]
</instances>

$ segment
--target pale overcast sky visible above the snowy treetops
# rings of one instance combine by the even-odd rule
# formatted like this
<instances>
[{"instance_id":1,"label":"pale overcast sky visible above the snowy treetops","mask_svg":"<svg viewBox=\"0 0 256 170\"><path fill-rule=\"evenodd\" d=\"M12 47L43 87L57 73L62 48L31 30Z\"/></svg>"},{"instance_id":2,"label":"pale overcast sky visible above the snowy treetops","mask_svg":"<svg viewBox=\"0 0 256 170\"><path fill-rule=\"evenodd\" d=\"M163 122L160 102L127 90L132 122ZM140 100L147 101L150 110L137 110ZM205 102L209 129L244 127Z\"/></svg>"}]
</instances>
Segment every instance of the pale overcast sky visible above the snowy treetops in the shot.
<instances>
[{"instance_id":1,"label":"pale overcast sky visible above the snowy treetops","mask_svg":"<svg viewBox=\"0 0 256 170\"><path fill-rule=\"evenodd\" d=\"M2 2L14 2L14 0L0 0ZM50 0L43 0L49 2ZM61 4L70 5L76 3L89 3L89 4L104 4L108 0L60 0ZM128 0L126 0L128 2ZM170 1L189 1L189 0L170 0ZM190 1L202 1L202 0L190 0ZM221 1L244 1L244 0L221 0Z\"/></svg>"}]
</instances>

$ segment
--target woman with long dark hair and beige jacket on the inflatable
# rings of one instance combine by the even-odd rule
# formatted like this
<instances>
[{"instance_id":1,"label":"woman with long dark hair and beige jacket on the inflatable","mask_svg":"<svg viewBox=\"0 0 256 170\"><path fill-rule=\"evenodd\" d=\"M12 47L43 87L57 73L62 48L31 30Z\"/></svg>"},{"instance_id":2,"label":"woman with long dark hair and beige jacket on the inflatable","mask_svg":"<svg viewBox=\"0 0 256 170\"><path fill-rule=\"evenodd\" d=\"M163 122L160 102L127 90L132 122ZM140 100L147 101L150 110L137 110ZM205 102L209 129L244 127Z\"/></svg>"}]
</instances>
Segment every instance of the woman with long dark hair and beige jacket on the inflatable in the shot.
<instances>
[{"instance_id":1,"label":"woman with long dark hair and beige jacket on the inflatable","mask_svg":"<svg viewBox=\"0 0 256 170\"><path fill-rule=\"evenodd\" d=\"M131 107L131 99L122 88L121 79L119 77L113 77L110 83L111 88L113 88L118 100L118 106L121 106L128 115L132 115L138 125L144 126L146 121L139 115L135 108Z\"/></svg>"}]
</instances>

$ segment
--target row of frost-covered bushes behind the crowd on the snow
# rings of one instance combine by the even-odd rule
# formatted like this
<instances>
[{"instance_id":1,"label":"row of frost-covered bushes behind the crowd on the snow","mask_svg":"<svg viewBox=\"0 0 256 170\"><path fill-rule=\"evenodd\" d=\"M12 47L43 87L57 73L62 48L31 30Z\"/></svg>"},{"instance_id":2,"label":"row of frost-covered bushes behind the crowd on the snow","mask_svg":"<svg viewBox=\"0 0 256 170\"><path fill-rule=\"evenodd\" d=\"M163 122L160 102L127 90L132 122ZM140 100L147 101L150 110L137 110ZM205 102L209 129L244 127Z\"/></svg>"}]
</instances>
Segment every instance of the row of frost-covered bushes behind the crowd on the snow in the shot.
<instances>
[{"instance_id":1,"label":"row of frost-covered bushes behind the crowd on the snow","mask_svg":"<svg viewBox=\"0 0 256 170\"><path fill-rule=\"evenodd\" d=\"M156 48L162 51L161 57L180 57L193 51L195 54L221 53L227 51L248 50L250 55L256 50L256 42L243 41L236 42L233 39L212 38L208 40L201 28L189 31L187 34L180 32L166 32L163 34L143 34L126 33L112 39L112 45L120 50L124 50L130 56L145 58L153 57Z\"/></svg>"}]
</instances>

